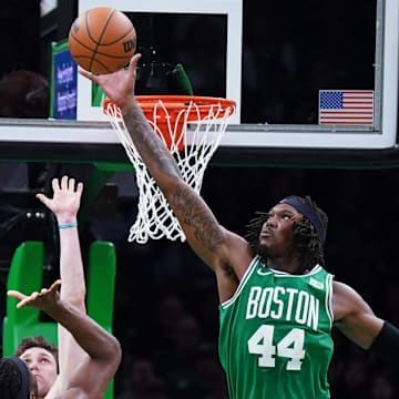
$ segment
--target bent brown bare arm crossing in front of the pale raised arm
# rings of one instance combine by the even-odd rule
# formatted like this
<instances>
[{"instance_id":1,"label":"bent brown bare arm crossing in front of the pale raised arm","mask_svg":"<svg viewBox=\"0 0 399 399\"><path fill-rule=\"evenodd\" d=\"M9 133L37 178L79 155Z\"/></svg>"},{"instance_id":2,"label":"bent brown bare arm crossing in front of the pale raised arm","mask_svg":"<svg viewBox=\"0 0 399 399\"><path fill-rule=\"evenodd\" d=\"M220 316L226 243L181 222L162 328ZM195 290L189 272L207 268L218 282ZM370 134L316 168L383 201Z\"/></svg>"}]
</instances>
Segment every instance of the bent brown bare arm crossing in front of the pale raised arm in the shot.
<instances>
[{"instance_id":1,"label":"bent brown bare arm crossing in front of the pale raised arm","mask_svg":"<svg viewBox=\"0 0 399 399\"><path fill-rule=\"evenodd\" d=\"M65 389L57 398L101 398L120 365L121 346L115 337L89 316L63 301L57 291L60 285L58 280L49 289L43 288L30 296L14 290L8 291L8 295L19 300L18 308L31 306L45 311L68 329L86 352L68 376Z\"/></svg>"}]
</instances>

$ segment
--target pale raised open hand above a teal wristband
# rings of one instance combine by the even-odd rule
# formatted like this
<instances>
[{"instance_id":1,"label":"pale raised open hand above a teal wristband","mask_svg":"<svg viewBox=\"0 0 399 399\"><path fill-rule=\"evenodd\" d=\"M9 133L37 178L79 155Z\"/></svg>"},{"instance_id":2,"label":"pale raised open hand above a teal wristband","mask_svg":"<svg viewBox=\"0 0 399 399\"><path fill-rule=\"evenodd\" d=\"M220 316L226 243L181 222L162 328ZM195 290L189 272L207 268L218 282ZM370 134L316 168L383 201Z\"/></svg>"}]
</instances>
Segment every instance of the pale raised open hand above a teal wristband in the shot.
<instances>
[{"instance_id":1,"label":"pale raised open hand above a teal wristband","mask_svg":"<svg viewBox=\"0 0 399 399\"><path fill-rule=\"evenodd\" d=\"M55 214L60 224L76 222L83 183L78 183L75 187L74 178L63 176L61 184L58 178L53 178L52 187L54 192L52 198L49 198L44 194L37 194L37 198Z\"/></svg>"}]
</instances>

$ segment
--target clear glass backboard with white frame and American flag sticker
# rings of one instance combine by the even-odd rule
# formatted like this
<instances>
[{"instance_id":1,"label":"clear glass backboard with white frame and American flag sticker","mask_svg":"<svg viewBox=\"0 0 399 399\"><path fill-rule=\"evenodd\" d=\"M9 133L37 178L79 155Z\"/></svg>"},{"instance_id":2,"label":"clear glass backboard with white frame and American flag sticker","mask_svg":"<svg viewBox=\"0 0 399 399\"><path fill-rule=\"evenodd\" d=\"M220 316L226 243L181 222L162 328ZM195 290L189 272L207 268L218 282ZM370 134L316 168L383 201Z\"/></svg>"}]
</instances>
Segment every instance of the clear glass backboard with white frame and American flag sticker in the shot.
<instances>
[{"instance_id":1,"label":"clear glass backboard with white frame and American flag sticker","mask_svg":"<svg viewBox=\"0 0 399 399\"><path fill-rule=\"evenodd\" d=\"M221 144L219 152L228 153L223 162L246 164L256 154L267 163L270 151L289 160L293 151L305 151L323 164L326 151L351 160L356 151L367 150L367 158L396 149L398 0L337 0L334 8L295 0L79 0L78 13L100 6L133 21L139 51L152 48L160 60L182 63L195 95L236 101ZM327 123L326 114L332 117ZM81 143L102 154L112 153L102 145L119 144L93 105L91 82L80 75L76 121L3 122L1 141L78 152Z\"/></svg>"}]
</instances>

